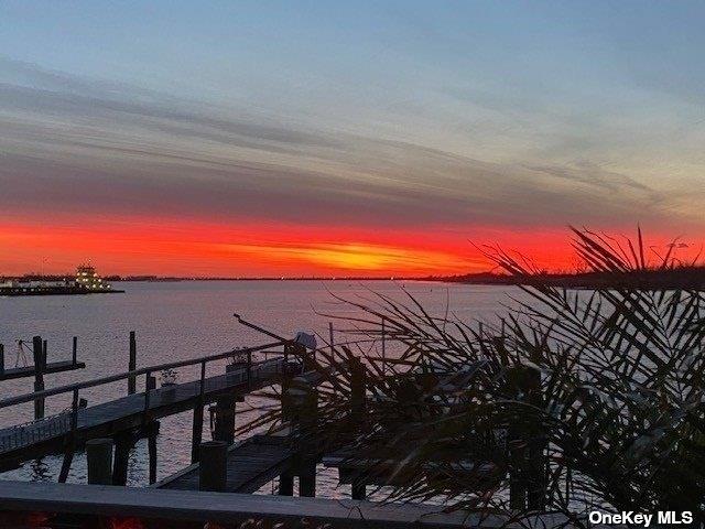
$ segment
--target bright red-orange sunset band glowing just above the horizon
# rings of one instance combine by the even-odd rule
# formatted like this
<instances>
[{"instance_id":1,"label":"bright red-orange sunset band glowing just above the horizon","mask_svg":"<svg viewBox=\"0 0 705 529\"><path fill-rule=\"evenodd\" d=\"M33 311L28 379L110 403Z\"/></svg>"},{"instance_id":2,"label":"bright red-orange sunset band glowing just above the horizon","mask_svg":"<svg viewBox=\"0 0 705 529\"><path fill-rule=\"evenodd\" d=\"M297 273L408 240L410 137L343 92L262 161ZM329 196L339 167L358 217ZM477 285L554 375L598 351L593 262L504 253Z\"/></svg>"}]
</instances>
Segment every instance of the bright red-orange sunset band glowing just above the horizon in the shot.
<instances>
[{"instance_id":1,"label":"bright red-orange sunset band glowing just above the horizon","mask_svg":"<svg viewBox=\"0 0 705 529\"><path fill-rule=\"evenodd\" d=\"M65 273L90 260L101 274L182 277L421 277L490 270L469 242L500 245L549 270L572 270L567 228L234 225L185 219L0 218L0 276ZM631 234L628 234L631 235ZM8 251L7 249L10 249Z\"/></svg>"}]
</instances>

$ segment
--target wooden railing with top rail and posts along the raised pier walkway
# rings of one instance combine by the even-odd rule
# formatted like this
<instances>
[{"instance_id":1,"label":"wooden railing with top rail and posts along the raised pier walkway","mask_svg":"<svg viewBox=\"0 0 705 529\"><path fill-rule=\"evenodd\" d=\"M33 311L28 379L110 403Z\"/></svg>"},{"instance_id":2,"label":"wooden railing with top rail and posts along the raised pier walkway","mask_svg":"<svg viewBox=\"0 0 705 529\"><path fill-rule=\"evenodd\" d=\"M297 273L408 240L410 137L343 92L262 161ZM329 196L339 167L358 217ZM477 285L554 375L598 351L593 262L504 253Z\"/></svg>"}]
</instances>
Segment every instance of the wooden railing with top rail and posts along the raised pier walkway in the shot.
<instances>
[{"instance_id":1,"label":"wooden railing with top rail and posts along the raised pier walkway","mask_svg":"<svg viewBox=\"0 0 705 529\"><path fill-rule=\"evenodd\" d=\"M275 347L282 346L282 352L272 350ZM302 361L302 352L305 352L305 348L297 346L297 344L295 344L294 342L280 339L256 347L234 348L225 353L219 353L206 357L159 364L155 366L133 369L93 380L75 382L57 388L45 389L42 391L35 391L1 399L0 409L3 409L25 402L36 402L37 400L43 401L47 397L57 395L72 393L73 396L70 408L58 414L6 429L0 435L0 453L42 442L44 440L48 440L58 435L65 435L70 432L75 432L78 427L80 390L95 388L120 380L134 380L137 379L137 377L144 376L144 412L148 412L150 410L150 406L153 403L151 402L152 393L156 389L155 380L152 376L155 373L160 373L165 369L199 366L199 391L200 398L203 398L206 391L213 392L219 389L225 389L231 386L234 382L247 382L249 386L253 381L259 381L264 377L281 375L286 369L289 369L290 363L292 360L295 363ZM252 355L257 353L267 353L267 356L274 354L276 355L276 357L257 361L253 360L252 357ZM237 371L227 371L220 377L210 379L206 378L206 368L208 364L228 359L236 360L236 364L239 366L239 369Z\"/></svg>"}]
</instances>

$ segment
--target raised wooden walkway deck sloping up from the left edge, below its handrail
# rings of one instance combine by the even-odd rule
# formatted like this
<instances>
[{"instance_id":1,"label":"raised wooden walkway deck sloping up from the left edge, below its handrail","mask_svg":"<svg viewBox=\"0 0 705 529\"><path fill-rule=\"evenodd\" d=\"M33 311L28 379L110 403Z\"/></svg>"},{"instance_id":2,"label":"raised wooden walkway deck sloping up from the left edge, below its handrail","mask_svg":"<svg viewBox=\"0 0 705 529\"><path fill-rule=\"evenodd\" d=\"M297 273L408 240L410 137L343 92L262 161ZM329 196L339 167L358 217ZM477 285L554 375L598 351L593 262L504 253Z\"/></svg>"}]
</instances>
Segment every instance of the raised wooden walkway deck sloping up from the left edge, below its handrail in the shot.
<instances>
[{"instance_id":1,"label":"raised wooden walkway deck sloping up from the left edge, below its handrail","mask_svg":"<svg viewBox=\"0 0 705 529\"><path fill-rule=\"evenodd\" d=\"M246 367L226 375L208 377L203 390L204 403L213 402L224 392L246 393L274 384L283 369L283 358L273 358L254 364L249 380ZM0 430L0 460L25 461L59 453L68 441L80 443L87 439L110 436L130 428L138 428L148 419L154 420L188 410L199 398L200 381L196 380L151 390L149 399L141 392L80 409L77 412L74 440L69 439L73 419L70 411L6 428Z\"/></svg>"}]
</instances>

